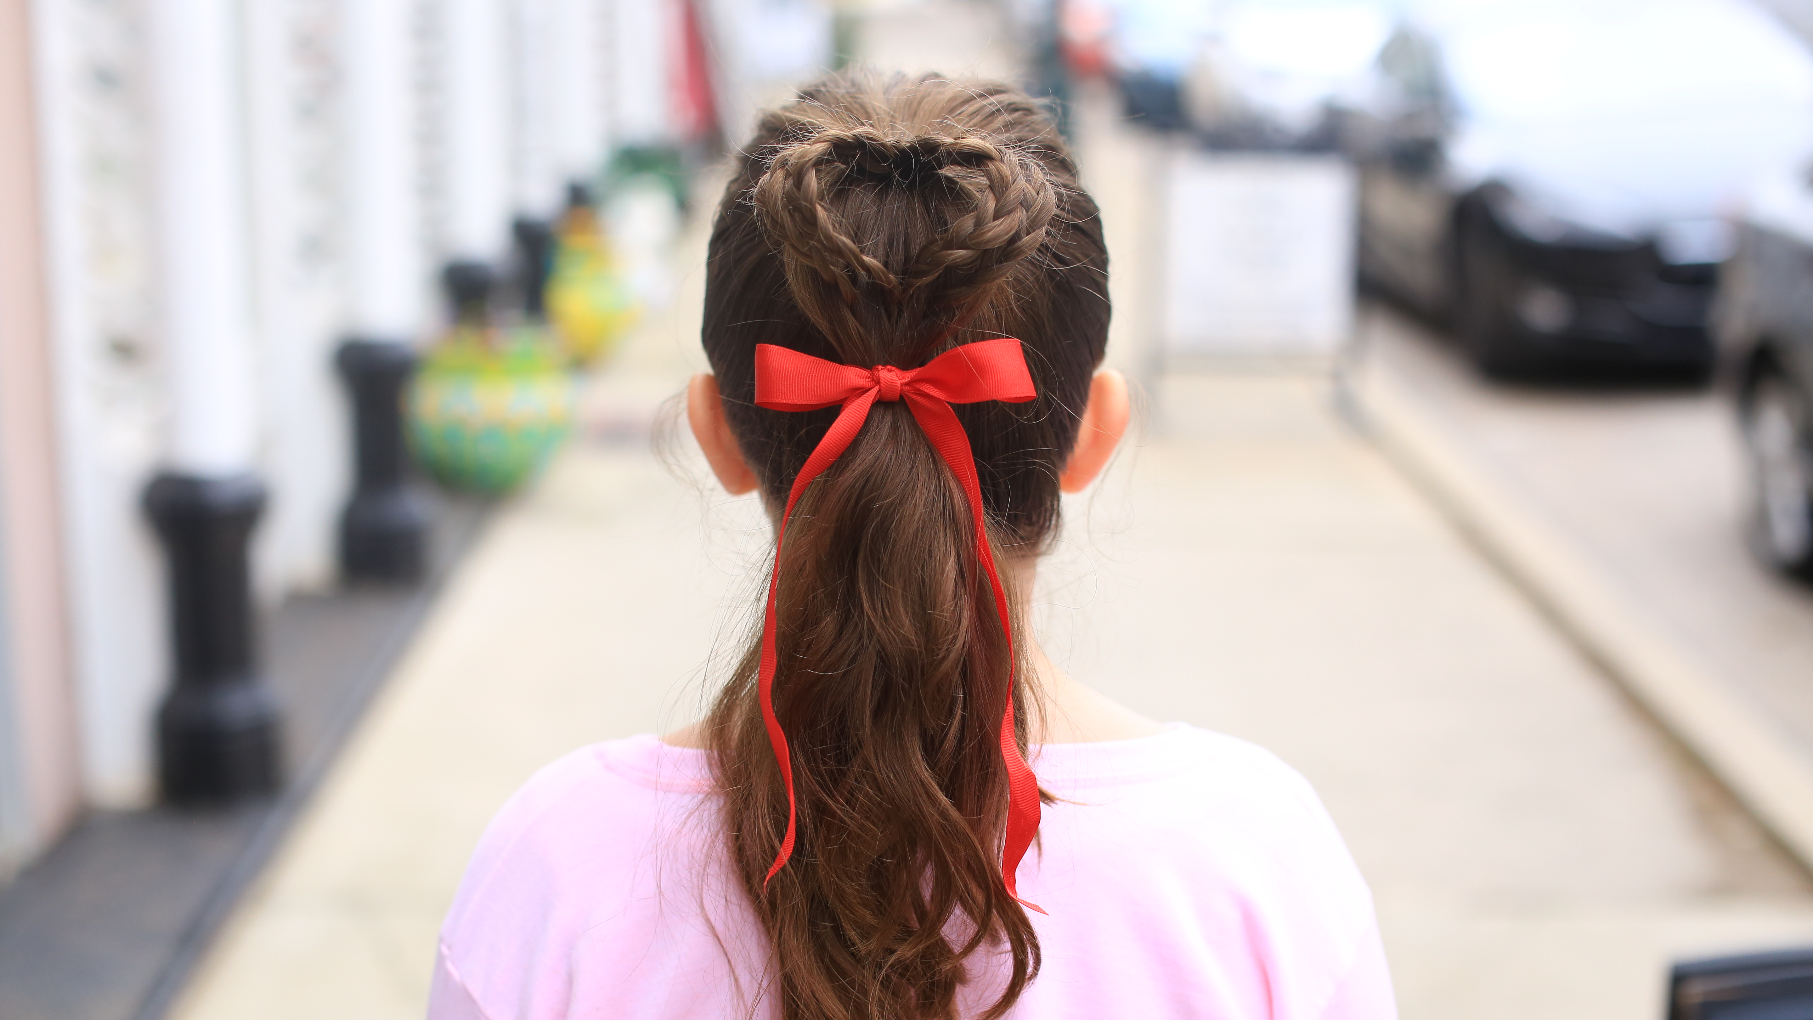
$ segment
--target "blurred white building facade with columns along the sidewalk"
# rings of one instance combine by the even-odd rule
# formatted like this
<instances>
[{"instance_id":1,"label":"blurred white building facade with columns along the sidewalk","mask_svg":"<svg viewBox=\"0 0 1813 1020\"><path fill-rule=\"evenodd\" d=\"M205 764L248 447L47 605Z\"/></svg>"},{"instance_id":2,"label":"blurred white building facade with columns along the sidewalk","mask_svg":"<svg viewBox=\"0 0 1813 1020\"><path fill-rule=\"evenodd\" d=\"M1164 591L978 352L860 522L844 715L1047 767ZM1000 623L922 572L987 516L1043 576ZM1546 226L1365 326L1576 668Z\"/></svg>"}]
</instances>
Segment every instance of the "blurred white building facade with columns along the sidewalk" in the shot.
<instances>
[{"instance_id":1,"label":"blurred white building facade with columns along the sidewalk","mask_svg":"<svg viewBox=\"0 0 1813 1020\"><path fill-rule=\"evenodd\" d=\"M687 2L0 0L0 880L158 795L147 483L256 476L259 601L335 584L337 345L664 142Z\"/></svg>"}]
</instances>

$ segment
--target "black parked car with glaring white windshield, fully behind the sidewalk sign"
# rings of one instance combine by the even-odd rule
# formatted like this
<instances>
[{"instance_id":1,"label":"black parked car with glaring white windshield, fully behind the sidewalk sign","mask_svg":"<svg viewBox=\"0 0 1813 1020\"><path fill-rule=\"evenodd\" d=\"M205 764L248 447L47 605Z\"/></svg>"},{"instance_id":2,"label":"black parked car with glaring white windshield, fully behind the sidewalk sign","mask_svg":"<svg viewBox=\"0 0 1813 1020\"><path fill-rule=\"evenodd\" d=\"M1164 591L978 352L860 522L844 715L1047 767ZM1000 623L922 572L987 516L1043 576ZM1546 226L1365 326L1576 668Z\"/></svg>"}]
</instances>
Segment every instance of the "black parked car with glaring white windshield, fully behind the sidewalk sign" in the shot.
<instances>
[{"instance_id":1,"label":"black parked car with glaring white windshield, fully behind the sidewalk sign","mask_svg":"<svg viewBox=\"0 0 1813 1020\"><path fill-rule=\"evenodd\" d=\"M1813 58L1739 0L1430 11L1345 116L1362 281L1487 374L1710 368L1722 212L1813 136Z\"/></svg>"}]
</instances>

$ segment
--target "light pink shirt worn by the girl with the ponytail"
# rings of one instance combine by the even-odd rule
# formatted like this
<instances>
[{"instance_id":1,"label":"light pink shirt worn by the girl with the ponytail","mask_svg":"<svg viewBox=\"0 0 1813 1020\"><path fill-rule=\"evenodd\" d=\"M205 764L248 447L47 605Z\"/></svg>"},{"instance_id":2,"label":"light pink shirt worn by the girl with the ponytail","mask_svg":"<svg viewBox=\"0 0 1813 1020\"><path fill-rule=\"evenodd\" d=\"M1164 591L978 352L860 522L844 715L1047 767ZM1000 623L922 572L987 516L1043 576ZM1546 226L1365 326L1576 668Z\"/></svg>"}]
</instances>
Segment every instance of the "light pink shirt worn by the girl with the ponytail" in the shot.
<instances>
[{"instance_id":1,"label":"light pink shirt worn by the girl with the ponytail","mask_svg":"<svg viewBox=\"0 0 1813 1020\"><path fill-rule=\"evenodd\" d=\"M1035 750L1019 869L1044 969L1019 1020L1391 1020L1391 976L1334 822L1269 751L1189 726ZM537 773L441 929L431 1020L776 1016L765 940L714 824L707 751L651 735ZM970 1007L994 1002L995 958Z\"/></svg>"}]
</instances>

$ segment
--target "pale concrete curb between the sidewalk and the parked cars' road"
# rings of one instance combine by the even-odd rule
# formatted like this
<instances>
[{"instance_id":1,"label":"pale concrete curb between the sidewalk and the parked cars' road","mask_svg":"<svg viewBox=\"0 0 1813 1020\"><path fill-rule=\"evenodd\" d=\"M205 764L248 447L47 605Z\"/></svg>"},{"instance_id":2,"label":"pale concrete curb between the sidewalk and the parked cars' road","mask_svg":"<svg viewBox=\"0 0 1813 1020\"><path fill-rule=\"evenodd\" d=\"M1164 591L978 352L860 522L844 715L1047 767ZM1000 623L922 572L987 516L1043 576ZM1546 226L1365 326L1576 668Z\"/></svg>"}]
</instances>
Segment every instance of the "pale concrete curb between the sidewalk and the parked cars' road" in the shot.
<instances>
[{"instance_id":1,"label":"pale concrete curb between the sidewalk and the parked cars' road","mask_svg":"<svg viewBox=\"0 0 1813 1020\"><path fill-rule=\"evenodd\" d=\"M1813 871L1813 759L1663 633L1490 472L1376 358L1338 378L1372 443L1548 621Z\"/></svg>"}]
</instances>

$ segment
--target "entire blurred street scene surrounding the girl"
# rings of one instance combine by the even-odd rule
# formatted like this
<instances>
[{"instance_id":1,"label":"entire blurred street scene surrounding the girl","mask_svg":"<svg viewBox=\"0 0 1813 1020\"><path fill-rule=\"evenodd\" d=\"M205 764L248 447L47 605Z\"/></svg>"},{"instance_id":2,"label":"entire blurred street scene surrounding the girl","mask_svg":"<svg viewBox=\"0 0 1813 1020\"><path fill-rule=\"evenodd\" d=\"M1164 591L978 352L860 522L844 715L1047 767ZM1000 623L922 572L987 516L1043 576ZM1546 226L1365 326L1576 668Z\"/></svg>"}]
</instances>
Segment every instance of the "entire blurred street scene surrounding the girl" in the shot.
<instances>
[{"instance_id":1,"label":"entire blurred street scene surrounding the girl","mask_svg":"<svg viewBox=\"0 0 1813 1020\"><path fill-rule=\"evenodd\" d=\"M0 1016L419 1016L696 715L711 214L850 65L1059 114L1140 423L1041 641L1316 784L1405 1018L1813 1018L1804 0L0 0Z\"/></svg>"}]
</instances>

